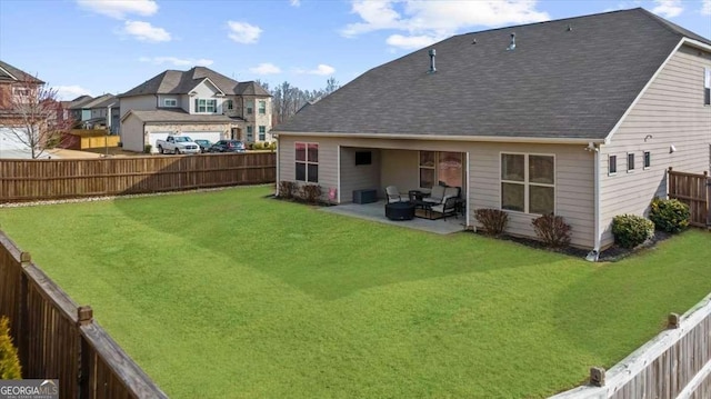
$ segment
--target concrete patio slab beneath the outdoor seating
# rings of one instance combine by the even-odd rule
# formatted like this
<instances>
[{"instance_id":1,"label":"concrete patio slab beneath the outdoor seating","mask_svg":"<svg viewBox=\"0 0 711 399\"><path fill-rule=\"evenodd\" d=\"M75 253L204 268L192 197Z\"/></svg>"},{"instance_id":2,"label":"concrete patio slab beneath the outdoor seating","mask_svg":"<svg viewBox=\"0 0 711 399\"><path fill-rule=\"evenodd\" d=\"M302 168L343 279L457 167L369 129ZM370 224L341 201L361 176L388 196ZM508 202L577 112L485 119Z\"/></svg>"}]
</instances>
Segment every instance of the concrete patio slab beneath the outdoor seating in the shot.
<instances>
[{"instance_id":1,"label":"concrete patio slab beneath the outdoor seating","mask_svg":"<svg viewBox=\"0 0 711 399\"><path fill-rule=\"evenodd\" d=\"M458 218L448 217L447 219L423 219L413 218L412 220L390 220L385 218L385 201L381 200L371 203L342 203L336 207L320 208L324 212L338 213L353 218L400 226L409 229L429 231L437 235L451 235L453 232L463 231L465 228L465 219L463 216Z\"/></svg>"}]
</instances>

